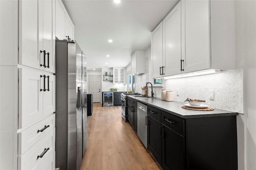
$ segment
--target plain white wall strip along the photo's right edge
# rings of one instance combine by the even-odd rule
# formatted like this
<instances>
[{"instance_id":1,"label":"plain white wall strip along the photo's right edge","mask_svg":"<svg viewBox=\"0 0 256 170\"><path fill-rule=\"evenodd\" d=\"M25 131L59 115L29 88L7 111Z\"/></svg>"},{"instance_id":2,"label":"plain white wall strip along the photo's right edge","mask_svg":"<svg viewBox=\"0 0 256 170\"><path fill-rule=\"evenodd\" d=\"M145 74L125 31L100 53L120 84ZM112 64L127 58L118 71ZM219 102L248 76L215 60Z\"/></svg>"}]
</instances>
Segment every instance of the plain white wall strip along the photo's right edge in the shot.
<instances>
[{"instance_id":1,"label":"plain white wall strip along the photo's right edge","mask_svg":"<svg viewBox=\"0 0 256 170\"><path fill-rule=\"evenodd\" d=\"M238 166L256 170L256 1L235 1L236 65L244 70L244 115L237 116Z\"/></svg>"}]
</instances>

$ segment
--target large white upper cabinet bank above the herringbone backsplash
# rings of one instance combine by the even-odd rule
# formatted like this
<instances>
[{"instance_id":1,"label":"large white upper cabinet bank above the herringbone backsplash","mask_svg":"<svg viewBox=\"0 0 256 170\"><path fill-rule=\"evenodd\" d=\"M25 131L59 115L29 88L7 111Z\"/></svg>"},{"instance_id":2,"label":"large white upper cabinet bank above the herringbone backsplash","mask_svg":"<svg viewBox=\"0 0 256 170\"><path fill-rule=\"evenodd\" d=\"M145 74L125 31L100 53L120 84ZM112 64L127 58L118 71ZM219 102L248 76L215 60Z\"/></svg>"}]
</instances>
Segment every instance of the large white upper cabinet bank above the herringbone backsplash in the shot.
<instances>
[{"instance_id":1,"label":"large white upper cabinet bank above the herringbone backsplash","mask_svg":"<svg viewBox=\"0 0 256 170\"><path fill-rule=\"evenodd\" d=\"M234 1L178 2L152 31L152 78L209 68L234 69L234 16Z\"/></svg>"}]
</instances>

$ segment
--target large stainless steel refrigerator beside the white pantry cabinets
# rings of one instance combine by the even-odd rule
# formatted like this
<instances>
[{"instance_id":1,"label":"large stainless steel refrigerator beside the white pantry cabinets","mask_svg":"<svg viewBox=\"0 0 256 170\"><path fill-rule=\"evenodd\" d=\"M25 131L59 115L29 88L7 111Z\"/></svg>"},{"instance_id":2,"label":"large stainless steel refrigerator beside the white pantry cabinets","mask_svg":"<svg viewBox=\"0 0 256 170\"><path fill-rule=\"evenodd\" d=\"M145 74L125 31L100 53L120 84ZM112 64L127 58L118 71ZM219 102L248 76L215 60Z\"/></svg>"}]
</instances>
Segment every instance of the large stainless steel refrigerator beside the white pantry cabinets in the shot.
<instances>
[{"instance_id":1,"label":"large stainless steel refrigerator beside the white pantry cabinets","mask_svg":"<svg viewBox=\"0 0 256 170\"><path fill-rule=\"evenodd\" d=\"M85 59L76 42L56 40L56 168L60 170L79 170L86 149Z\"/></svg>"}]
</instances>

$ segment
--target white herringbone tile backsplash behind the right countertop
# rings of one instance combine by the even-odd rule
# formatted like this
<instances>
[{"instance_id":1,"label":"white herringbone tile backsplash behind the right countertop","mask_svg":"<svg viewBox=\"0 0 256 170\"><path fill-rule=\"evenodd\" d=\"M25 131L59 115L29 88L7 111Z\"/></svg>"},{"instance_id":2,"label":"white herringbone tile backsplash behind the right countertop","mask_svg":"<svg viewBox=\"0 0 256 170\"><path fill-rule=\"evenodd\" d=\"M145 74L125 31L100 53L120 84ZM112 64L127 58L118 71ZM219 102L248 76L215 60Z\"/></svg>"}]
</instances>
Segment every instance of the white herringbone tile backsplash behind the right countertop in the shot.
<instances>
[{"instance_id":1,"label":"white herringbone tile backsplash behind the right countertop","mask_svg":"<svg viewBox=\"0 0 256 170\"><path fill-rule=\"evenodd\" d=\"M208 106L243 113L242 69L216 74L163 80L164 88L174 91L174 100L186 98L206 100ZM179 95L175 90L179 89ZM161 88L153 88L155 96L161 97ZM209 90L214 90L214 99L209 99Z\"/></svg>"}]
</instances>

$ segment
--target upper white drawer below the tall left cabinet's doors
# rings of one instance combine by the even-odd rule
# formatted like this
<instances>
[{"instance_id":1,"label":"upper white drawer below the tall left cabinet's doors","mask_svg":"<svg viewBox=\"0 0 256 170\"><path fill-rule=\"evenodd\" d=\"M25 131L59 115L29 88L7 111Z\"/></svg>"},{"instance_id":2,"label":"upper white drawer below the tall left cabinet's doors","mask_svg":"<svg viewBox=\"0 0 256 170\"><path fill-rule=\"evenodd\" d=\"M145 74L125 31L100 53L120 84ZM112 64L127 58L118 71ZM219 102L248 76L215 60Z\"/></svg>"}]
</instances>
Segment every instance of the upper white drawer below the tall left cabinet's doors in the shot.
<instances>
[{"instance_id":1,"label":"upper white drawer below the tall left cabinet's doors","mask_svg":"<svg viewBox=\"0 0 256 170\"><path fill-rule=\"evenodd\" d=\"M55 114L18 133L18 154L21 155L55 127Z\"/></svg>"}]
</instances>

